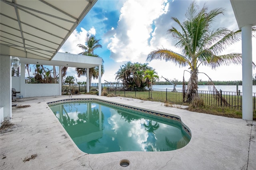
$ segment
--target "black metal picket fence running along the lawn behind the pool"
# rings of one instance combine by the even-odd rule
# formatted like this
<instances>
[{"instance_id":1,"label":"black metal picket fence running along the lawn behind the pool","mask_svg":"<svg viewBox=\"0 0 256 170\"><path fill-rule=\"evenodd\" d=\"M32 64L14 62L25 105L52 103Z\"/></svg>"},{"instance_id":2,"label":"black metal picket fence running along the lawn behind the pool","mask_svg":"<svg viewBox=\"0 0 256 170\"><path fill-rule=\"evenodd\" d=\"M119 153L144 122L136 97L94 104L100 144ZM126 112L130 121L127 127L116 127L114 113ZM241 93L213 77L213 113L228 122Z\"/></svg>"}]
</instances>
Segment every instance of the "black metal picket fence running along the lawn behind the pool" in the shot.
<instances>
[{"instance_id":1,"label":"black metal picket fence running along the lawn behind the pool","mask_svg":"<svg viewBox=\"0 0 256 170\"><path fill-rule=\"evenodd\" d=\"M97 91L97 86L90 86L90 91ZM86 93L86 86L63 86L62 95L72 95ZM182 90L172 89L137 89L124 87L102 87L102 91L115 96L130 97L142 100L169 102L172 104L189 105L190 102L185 101ZM231 109L242 110L242 92L230 91L198 91L197 96L204 101L204 104L218 107L228 107ZM253 110L256 110L256 93L252 93Z\"/></svg>"}]
</instances>

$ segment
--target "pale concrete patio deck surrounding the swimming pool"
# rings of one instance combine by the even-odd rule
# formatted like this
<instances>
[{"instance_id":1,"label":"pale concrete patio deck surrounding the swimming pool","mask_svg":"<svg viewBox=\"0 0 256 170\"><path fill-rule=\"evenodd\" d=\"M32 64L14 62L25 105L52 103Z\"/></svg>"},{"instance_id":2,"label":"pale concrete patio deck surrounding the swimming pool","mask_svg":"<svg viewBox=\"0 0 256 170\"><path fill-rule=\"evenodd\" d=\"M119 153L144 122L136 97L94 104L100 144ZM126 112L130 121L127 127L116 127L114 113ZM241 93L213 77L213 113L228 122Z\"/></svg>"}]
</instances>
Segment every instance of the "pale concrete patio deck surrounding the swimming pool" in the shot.
<instances>
[{"instance_id":1,"label":"pale concrete patio deck surrounding the swimming pool","mask_svg":"<svg viewBox=\"0 0 256 170\"><path fill-rule=\"evenodd\" d=\"M12 104L12 127L0 133L1 170L255 170L256 122L165 107L163 103L125 97L76 95L178 115L192 132L185 147L165 152L86 154L78 149L47 102L68 96L18 99ZM37 157L23 162L24 158ZM120 166L127 159L130 165Z\"/></svg>"}]
</instances>

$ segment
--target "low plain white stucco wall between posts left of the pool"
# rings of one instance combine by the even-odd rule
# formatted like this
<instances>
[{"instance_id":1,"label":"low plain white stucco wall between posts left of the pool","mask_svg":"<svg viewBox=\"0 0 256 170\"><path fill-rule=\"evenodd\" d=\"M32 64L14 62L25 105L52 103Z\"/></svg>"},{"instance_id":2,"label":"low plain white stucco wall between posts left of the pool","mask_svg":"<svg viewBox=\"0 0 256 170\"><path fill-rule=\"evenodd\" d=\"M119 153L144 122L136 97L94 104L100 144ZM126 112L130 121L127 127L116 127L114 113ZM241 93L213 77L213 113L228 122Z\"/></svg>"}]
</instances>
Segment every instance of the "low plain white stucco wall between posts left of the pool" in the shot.
<instances>
[{"instance_id":1,"label":"low plain white stucco wall between posts left of the pool","mask_svg":"<svg viewBox=\"0 0 256 170\"><path fill-rule=\"evenodd\" d=\"M25 97L58 96L59 84L25 84Z\"/></svg>"}]
</instances>

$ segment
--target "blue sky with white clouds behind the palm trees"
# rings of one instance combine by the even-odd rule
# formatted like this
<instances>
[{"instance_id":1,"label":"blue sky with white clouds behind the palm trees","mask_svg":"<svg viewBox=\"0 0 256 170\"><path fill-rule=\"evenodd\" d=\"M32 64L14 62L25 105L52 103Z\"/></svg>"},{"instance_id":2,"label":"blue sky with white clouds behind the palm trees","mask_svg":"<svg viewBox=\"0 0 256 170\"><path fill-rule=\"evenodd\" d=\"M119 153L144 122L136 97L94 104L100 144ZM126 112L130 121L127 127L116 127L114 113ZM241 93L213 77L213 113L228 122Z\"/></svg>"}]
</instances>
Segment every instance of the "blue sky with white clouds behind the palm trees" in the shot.
<instances>
[{"instance_id":1,"label":"blue sky with white clouds behind the palm trees","mask_svg":"<svg viewBox=\"0 0 256 170\"><path fill-rule=\"evenodd\" d=\"M94 51L104 60L105 73L102 75L102 83L106 81L116 82L115 73L128 61L132 63L148 63L158 73L158 76L167 79L182 81L183 74L188 81L190 74L184 72L188 67L180 67L171 61L153 60L146 62L148 54L164 47L180 53L180 49L174 47L176 41L166 34L172 26L178 26L171 17L176 17L180 22L185 20L185 13L192 1L190 0L98 0L85 18L80 22L59 52L78 54L82 49L77 44L84 44L86 35L91 34L100 40L102 48ZM213 29L228 28L238 30L238 25L229 0L196 0L198 6L206 3L209 10L224 8L224 15L218 15L212 25ZM252 47L256 46L255 38L252 38ZM252 60L256 63L256 48L252 48ZM228 47L220 55L231 52L242 53L242 41ZM199 72L206 73L213 81L238 81L242 80L242 65L221 66L216 69L202 66ZM253 74L256 70L253 70ZM76 81L86 81L86 77L78 77L75 68L69 67L67 75L72 75ZM208 81L208 77L202 73L198 79ZM165 81L160 79L160 81ZM92 80L97 83L98 80Z\"/></svg>"}]
</instances>

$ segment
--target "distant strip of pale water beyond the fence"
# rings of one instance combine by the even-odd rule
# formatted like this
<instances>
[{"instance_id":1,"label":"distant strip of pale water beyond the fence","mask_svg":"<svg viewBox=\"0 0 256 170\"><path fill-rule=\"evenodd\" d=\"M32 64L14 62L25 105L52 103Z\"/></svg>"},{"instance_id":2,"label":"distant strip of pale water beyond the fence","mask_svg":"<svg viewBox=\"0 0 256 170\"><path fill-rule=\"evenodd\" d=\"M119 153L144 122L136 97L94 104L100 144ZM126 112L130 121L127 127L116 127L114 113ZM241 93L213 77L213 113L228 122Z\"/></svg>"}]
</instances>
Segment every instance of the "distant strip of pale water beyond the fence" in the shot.
<instances>
[{"instance_id":1,"label":"distant strip of pale water beyond the fence","mask_svg":"<svg viewBox=\"0 0 256 170\"><path fill-rule=\"evenodd\" d=\"M198 90L202 91L212 91L210 85L198 85ZM215 85L218 91L230 91L236 92L236 85ZM173 89L173 85L153 85L153 89ZM182 90L182 85L176 85L176 90ZM238 90L242 92L242 85L238 86ZM252 86L252 93L256 93L256 85Z\"/></svg>"}]
</instances>

